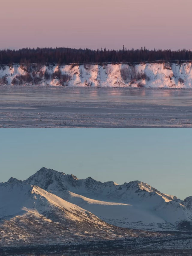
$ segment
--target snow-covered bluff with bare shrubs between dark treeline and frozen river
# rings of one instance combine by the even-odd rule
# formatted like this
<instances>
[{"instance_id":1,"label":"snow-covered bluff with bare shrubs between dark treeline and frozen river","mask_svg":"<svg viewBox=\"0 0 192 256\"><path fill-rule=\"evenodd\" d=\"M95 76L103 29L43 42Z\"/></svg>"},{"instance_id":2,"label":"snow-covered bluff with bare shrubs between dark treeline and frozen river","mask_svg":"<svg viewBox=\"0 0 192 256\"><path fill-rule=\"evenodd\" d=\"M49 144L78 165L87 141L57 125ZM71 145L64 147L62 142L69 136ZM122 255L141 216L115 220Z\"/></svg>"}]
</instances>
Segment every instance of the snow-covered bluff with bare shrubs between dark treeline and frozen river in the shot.
<instances>
[{"instance_id":1,"label":"snow-covered bluff with bare shrubs between dark treeline and frozen river","mask_svg":"<svg viewBox=\"0 0 192 256\"><path fill-rule=\"evenodd\" d=\"M192 88L191 62L1 65L0 85Z\"/></svg>"}]
</instances>

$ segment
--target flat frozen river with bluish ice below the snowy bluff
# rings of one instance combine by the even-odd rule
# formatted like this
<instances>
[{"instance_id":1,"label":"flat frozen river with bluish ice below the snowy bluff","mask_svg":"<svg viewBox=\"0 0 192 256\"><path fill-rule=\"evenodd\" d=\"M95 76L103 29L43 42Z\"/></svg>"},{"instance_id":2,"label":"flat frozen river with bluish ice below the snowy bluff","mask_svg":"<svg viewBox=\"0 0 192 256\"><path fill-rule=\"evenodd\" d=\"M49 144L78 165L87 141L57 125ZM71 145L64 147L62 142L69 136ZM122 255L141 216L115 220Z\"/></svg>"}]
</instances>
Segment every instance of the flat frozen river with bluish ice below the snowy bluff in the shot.
<instances>
[{"instance_id":1,"label":"flat frozen river with bluish ice below the snowy bluff","mask_svg":"<svg viewBox=\"0 0 192 256\"><path fill-rule=\"evenodd\" d=\"M0 127L192 127L192 90L0 86Z\"/></svg>"}]
</instances>

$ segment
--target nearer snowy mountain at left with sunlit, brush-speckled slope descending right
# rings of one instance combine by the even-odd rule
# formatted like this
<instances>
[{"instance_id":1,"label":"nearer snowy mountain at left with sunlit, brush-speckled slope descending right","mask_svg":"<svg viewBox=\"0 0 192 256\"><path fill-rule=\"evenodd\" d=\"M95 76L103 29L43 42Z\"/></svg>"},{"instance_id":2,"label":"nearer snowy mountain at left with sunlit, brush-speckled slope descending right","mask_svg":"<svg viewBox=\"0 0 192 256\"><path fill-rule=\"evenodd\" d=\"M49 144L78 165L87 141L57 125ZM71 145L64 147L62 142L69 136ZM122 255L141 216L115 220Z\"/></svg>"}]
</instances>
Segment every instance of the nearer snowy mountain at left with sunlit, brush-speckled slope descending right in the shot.
<instances>
[{"instance_id":1,"label":"nearer snowy mountain at left with sunlit, brush-speckled slope descending right","mask_svg":"<svg viewBox=\"0 0 192 256\"><path fill-rule=\"evenodd\" d=\"M122 231L38 186L11 181L0 183L0 246L151 235Z\"/></svg>"}]
</instances>

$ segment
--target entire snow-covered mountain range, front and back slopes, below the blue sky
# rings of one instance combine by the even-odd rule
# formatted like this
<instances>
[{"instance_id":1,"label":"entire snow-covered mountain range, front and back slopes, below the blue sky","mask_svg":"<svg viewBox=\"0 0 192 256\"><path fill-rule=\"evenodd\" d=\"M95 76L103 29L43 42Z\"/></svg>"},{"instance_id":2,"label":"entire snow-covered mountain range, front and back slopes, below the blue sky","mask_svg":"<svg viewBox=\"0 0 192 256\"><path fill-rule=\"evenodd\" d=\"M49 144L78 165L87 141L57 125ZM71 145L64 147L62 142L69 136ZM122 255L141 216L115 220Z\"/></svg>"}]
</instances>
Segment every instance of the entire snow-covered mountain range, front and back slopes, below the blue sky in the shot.
<instances>
[{"instance_id":1,"label":"entire snow-covered mountain range, front and back slopes, below the blue sky","mask_svg":"<svg viewBox=\"0 0 192 256\"><path fill-rule=\"evenodd\" d=\"M0 202L2 255L191 249L192 197L180 200L140 181L118 185L43 167L24 181L1 182Z\"/></svg>"}]
</instances>

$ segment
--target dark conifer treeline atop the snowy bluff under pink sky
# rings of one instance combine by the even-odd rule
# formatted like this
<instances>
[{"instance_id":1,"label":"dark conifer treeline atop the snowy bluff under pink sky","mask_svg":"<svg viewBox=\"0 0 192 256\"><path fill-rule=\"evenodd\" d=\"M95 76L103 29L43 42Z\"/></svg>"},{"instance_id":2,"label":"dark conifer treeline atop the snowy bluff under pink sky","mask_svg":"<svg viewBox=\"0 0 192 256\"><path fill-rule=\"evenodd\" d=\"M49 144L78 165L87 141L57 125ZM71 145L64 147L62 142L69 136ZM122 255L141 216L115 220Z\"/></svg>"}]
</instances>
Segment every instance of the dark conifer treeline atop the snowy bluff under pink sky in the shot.
<instances>
[{"instance_id":1,"label":"dark conifer treeline atop the snowy bluff under pink sky","mask_svg":"<svg viewBox=\"0 0 192 256\"><path fill-rule=\"evenodd\" d=\"M192 52L189 50L90 50L71 48L23 48L20 50L0 50L0 64L13 63L120 63L120 62L155 62L155 61L192 61Z\"/></svg>"}]
</instances>

